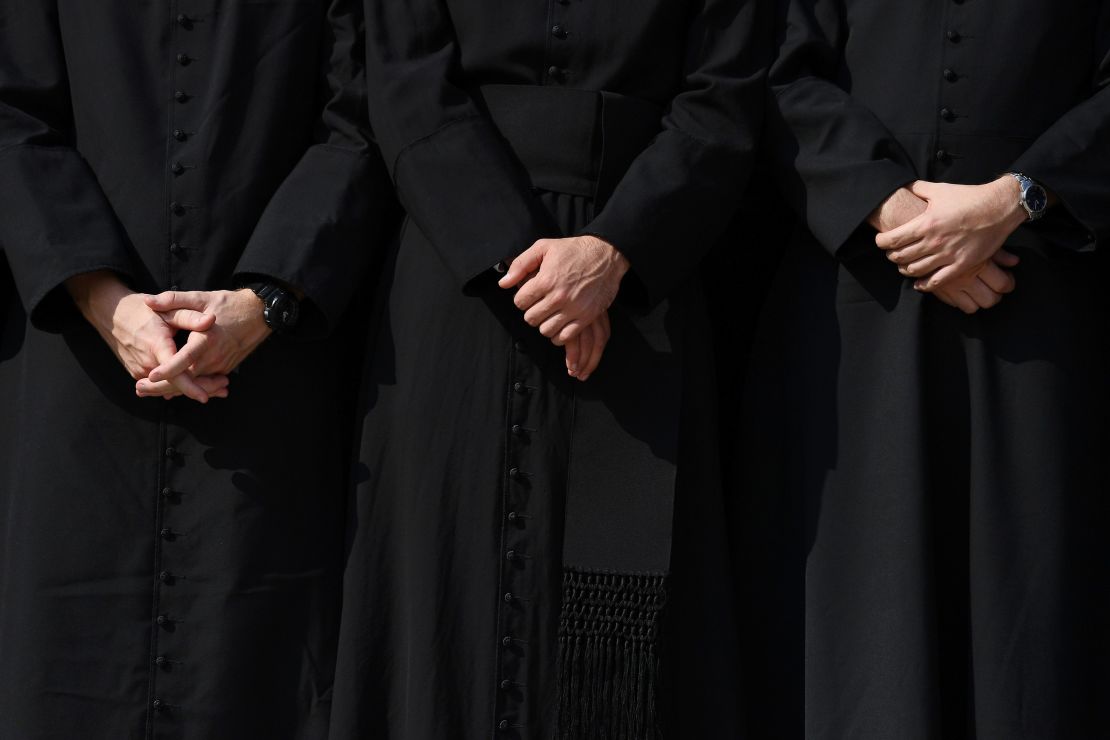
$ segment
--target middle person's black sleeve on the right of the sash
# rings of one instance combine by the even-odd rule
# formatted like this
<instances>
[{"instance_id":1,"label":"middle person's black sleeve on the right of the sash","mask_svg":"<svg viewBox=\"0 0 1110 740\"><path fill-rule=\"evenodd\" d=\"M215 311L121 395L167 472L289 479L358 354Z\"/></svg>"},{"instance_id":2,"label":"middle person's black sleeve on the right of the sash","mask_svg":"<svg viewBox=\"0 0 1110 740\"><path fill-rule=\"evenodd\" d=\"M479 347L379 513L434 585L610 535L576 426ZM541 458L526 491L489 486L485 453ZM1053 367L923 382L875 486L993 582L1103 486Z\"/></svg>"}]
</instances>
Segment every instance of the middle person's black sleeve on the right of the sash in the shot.
<instances>
[{"instance_id":1,"label":"middle person's black sleeve on the right of the sash","mask_svg":"<svg viewBox=\"0 0 1110 740\"><path fill-rule=\"evenodd\" d=\"M584 230L628 257L650 303L697 270L739 205L763 126L760 6L705 0L694 12L662 132Z\"/></svg>"}]
</instances>

